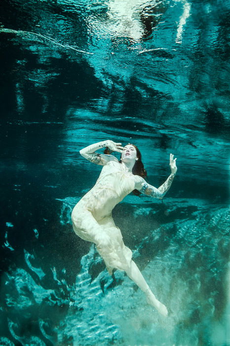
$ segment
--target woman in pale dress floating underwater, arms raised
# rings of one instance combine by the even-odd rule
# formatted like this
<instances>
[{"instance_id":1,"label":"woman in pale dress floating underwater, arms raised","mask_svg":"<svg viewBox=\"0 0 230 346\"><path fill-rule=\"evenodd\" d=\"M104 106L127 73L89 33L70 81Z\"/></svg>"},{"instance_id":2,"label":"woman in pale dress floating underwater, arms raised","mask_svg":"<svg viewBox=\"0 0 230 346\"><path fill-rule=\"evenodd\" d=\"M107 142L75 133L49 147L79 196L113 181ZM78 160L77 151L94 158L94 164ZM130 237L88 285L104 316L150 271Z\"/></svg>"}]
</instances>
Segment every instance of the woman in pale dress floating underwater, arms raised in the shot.
<instances>
[{"instance_id":1,"label":"woman in pale dress floating underwater, arms raised","mask_svg":"<svg viewBox=\"0 0 230 346\"><path fill-rule=\"evenodd\" d=\"M113 155L95 152L105 147L121 153L120 162ZM171 174L157 189L144 180L147 173L141 161L141 153L133 144L123 148L121 143L105 140L81 149L80 154L90 162L104 167L94 187L82 197L72 212L75 233L96 244L110 274L113 268L124 270L146 294L147 302L167 316L167 308L155 298L132 260L131 250L124 245L120 229L114 223L112 210L133 190L135 194L143 193L161 199L177 172L176 159L170 154Z\"/></svg>"}]
</instances>

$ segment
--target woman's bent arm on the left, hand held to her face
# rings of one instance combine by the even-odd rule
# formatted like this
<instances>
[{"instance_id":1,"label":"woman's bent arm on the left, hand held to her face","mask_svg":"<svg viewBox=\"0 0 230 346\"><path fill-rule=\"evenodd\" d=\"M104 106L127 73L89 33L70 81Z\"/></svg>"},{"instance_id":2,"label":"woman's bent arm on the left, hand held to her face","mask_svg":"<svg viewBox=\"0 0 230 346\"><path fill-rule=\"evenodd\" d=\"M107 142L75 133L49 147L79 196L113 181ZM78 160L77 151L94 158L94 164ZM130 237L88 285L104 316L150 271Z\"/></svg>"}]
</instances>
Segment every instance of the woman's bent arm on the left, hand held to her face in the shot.
<instances>
[{"instance_id":1,"label":"woman's bent arm on the left, hand held to her face","mask_svg":"<svg viewBox=\"0 0 230 346\"><path fill-rule=\"evenodd\" d=\"M84 149L81 149L80 155L96 165L105 166L109 161L114 161L117 159L113 155L96 153L96 150L108 147L112 151L117 151L118 153L121 153L122 147L120 145L121 143L115 143L112 140L103 140L102 142L91 144L85 147Z\"/></svg>"}]
</instances>

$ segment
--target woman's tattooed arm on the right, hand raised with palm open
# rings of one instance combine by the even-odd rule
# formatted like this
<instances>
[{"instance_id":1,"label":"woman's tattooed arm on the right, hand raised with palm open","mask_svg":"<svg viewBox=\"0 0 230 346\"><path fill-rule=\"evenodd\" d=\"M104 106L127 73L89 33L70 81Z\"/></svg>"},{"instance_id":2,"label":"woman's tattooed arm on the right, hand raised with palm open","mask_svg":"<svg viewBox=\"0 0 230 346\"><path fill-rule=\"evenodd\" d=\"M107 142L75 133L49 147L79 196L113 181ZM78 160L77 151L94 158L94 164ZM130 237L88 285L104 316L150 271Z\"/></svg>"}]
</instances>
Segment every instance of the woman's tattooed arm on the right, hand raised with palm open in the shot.
<instances>
[{"instance_id":1,"label":"woman's tattooed arm on the right, hand raised with palm open","mask_svg":"<svg viewBox=\"0 0 230 346\"><path fill-rule=\"evenodd\" d=\"M160 186L158 189L150 184L148 184L142 177L136 176L136 184L135 188L139 190L141 193L150 196L150 197L155 197L162 199L166 192L169 190L174 176L176 175L177 172L177 166L176 166L176 159L173 159L173 155L170 154L170 163L169 166L171 168L171 174L167 178L167 180Z\"/></svg>"}]
</instances>

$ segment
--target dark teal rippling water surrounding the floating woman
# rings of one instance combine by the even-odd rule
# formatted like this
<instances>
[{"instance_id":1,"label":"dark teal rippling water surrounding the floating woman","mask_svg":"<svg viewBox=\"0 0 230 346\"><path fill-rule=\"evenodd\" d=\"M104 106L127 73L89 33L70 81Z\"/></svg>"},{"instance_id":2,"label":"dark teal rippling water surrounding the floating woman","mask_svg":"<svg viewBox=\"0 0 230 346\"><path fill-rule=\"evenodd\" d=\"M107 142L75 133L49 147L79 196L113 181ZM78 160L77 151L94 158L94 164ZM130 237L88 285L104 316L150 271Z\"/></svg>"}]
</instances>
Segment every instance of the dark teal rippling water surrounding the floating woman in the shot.
<instances>
[{"instance_id":1,"label":"dark teal rippling water surrounding the floating woman","mask_svg":"<svg viewBox=\"0 0 230 346\"><path fill-rule=\"evenodd\" d=\"M230 345L229 4L1 0L0 345ZM114 210L167 319L72 230L104 139L177 157Z\"/></svg>"}]
</instances>

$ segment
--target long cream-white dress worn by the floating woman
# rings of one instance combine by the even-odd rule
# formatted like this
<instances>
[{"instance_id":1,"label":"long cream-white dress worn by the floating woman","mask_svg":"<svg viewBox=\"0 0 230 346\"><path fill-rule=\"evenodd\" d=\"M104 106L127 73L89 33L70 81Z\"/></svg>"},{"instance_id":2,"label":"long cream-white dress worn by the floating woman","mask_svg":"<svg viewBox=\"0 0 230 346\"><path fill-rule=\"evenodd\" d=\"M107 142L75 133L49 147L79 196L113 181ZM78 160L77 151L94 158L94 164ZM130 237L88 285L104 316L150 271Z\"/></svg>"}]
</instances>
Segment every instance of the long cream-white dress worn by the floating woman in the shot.
<instances>
[{"instance_id":1,"label":"long cream-white dress worn by the floating woman","mask_svg":"<svg viewBox=\"0 0 230 346\"><path fill-rule=\"evenodd\" d=\"M110 273L113 268L127 270L131 264L132 251L123 243L112 210L134 190L137 178L137 175L125 172L118 160L108 162L94 187L82 197L72 212L75 233L96 244ZM108 237L109 243L105 241Z\"/></svg>"}]
</instances>

